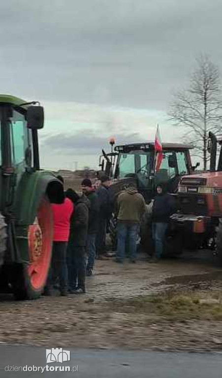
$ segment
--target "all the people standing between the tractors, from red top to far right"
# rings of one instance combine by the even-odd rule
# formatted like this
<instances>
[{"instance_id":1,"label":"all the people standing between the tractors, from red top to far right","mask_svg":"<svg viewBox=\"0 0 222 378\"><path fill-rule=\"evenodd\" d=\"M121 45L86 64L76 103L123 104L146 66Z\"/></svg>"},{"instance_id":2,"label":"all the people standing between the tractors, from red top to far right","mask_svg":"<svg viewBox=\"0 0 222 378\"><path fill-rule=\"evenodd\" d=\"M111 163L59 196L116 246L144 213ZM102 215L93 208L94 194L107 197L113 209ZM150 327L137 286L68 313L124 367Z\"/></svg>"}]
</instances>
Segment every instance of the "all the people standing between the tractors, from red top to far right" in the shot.
<instances>
[{"instance_id":1,"label":"all the people standing between the tractors, from red top to far right","mask_svg":"<svg viewBox=\"0 0 222 378\"><path fill-rule=\"evenodd\" d=\"M63 182L61 176L58 179ZM131 184L118 195L114 209L110 184L106 175L101 176L96 186L90 179L84 179L81 195L67 189L64 202L52 205L54 241L45 295L51 295L55 285L62 296L86 292L85 277L92 276L95 258L101 258L105 253L106 232L112 213L117 219L116 262L124 262L127 248L130 262L136 262L136 240L146 204ZM155 253L150 262L158 262L162 255L167 224L173 212L172 196L164 185L158 185L152 202Z\"/></svg>"}]
</instances>

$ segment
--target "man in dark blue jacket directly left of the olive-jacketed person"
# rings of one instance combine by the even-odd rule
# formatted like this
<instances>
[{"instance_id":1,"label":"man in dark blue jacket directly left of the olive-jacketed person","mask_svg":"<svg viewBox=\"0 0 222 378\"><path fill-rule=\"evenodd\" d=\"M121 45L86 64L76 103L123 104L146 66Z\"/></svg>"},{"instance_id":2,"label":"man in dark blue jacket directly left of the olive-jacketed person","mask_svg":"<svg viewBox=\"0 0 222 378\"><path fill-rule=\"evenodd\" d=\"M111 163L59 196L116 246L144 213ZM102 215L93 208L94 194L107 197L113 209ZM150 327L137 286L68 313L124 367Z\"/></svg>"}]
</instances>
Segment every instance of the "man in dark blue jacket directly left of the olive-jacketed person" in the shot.
<instances>
[{"instance_id":1,"label":"man in dark blue jacket directly left of the olive-jacketed person","mask_svg":"<svg viewBox=\"0 0 222 378\"><path fill-rule=\"evenodd\" d=\"M102 255L105 253L106 229L112 216L112 203L109 190L111 180L104 174L100 177L100 181L101 186L96 190L99 201L98 232L96 235L96 256L98 259L102 258Z\"/></svg>"}]
</instances>

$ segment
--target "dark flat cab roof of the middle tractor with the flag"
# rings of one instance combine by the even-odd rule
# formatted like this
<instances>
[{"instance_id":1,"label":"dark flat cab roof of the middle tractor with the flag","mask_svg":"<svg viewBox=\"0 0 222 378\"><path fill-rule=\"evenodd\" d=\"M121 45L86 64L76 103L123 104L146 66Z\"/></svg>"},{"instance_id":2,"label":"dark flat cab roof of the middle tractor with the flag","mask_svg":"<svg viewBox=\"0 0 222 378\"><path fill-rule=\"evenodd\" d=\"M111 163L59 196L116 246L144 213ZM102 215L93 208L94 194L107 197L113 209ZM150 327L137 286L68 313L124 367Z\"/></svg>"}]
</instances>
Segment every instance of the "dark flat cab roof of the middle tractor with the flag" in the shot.
<instances>
[{"instance_id":1,"label":"dark flat cab roof of the middle tractor with the flag","mask_svg":"<svg viewBox=\"0 0 222 378\"><path fill-rule=\"evenodd\" d=\"M182 151L182 150L190 150L193 148L192 145L189 144L182 144L182 143L162 143L163 150L175 150L175 151ZM114 148L117 152L130 152L130 151L149 151L154 149L154 142L147 142L147 143L131 143L131 144L124 144L121 146L116 146Z\"/></svg>"}]
</instances>

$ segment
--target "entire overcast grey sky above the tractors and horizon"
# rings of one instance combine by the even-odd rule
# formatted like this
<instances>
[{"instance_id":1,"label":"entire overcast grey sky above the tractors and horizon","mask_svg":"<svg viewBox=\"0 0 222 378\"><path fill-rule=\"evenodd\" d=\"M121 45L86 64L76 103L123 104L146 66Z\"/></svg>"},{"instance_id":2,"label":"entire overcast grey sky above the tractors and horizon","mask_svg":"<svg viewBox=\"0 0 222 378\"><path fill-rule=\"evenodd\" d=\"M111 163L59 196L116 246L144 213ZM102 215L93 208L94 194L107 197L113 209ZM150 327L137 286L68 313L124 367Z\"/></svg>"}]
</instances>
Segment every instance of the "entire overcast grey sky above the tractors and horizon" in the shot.
<instances>
[{"instance_id":1,"label":"entire overcast grey sky above the tractors and horizon","mask_svg":"<svg viewBox=\"0 0 222 378\"><path fill-rule=\"evenodd\" d=\"M221 0L1 1L0 92L44 105L44 167L95 167L110 136L153 139L157 123L180 141L170 95L200 53L222 71L221 18Z\"/></svg>"}]
</instances>

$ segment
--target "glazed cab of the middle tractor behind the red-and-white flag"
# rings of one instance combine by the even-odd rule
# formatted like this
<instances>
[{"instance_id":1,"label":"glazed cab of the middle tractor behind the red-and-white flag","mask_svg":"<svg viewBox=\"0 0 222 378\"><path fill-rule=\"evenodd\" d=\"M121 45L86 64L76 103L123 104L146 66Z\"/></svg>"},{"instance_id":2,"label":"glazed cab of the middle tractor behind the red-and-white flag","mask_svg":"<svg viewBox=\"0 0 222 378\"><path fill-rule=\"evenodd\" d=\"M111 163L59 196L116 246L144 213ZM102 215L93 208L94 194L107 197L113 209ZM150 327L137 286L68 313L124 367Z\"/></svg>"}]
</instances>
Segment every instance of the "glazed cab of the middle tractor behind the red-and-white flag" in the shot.
<instances>
[{"instance_id":1,"label":"glazed cab of the middle tractor behind the red-and-white flag","mask_svg":"<svg viewBox=\"0 0 222 378\"><path fill-rule=\"evenodd\" d=\"M169 192L176 192L180 177L191 174L191 146L164 143L162 161L155 173L154 143L133 143L114 147L100 158L101 170L110 175L117 191L134 181L145 200L150 202L158 183L165 182Z\"/></svg>"}]
</instances>

